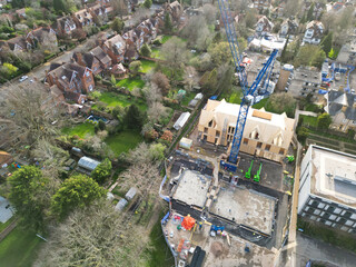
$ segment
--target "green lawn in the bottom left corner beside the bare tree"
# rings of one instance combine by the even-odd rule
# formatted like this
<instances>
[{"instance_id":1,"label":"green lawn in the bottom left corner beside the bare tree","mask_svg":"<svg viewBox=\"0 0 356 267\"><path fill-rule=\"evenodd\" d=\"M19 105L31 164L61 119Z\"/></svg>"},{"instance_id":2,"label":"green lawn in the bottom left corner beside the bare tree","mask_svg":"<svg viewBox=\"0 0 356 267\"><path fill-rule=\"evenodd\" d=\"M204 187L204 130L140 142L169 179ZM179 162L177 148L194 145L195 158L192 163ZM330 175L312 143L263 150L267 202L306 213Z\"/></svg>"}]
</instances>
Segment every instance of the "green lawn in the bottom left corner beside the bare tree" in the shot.
<instances>
[{"instance_id":1,"label":"green lawn in the bottom left corner beside the bare tree","mask_svg":"<svg viewBox=\"0 0 356 267\"><path fill-rule=\"evenodd\" d=\"M19 227L14 228L0 243L0 266L32 266L42 243L34 233L22 231Z\"/></svg>"}]
</instances>

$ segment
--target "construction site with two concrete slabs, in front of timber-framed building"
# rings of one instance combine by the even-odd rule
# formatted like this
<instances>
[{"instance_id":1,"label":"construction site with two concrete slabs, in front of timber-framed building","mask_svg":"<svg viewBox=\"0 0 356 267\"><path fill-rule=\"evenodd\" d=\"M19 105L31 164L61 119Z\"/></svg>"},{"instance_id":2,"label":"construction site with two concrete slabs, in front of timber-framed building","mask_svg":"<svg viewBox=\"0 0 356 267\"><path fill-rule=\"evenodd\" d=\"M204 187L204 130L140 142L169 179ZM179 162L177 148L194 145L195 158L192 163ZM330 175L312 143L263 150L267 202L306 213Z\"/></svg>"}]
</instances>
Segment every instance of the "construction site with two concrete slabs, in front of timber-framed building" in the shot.
<instances>
[{"instance_id":1,"label":"construction site with two concrete slabs, in front of timber-framed building","mask_svg":"<svg viewBox=\"0 0 356 267\"><path fill-rule=\"evenodd\" d=\"M293 178L286 174L294 165L240 152L231 174L219 166L224 147L192 144L170 158L160 192L169 201L161 225L176 265L274 266L287 235Z\"/></svg>"}]
</instances>

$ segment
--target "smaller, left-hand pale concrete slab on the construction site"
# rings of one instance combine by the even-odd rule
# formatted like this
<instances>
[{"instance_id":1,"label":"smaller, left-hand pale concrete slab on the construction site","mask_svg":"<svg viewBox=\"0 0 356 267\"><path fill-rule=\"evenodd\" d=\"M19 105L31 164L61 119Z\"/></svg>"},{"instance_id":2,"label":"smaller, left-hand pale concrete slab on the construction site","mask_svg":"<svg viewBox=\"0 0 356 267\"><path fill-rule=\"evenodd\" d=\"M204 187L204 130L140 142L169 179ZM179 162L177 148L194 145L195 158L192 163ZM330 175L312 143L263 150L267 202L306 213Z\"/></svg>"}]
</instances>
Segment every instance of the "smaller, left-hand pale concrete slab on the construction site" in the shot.
<instances>
[{"instance_id":1,"label":"smaller, left-hand pale concrete slab on the construction site","mask_svg":"<svg viewBox=\"0 0 356 267\"><path fill-rule=\"evenodd\" d=\"M185 169L179 176L179 182L172 198L202 208L210 184L211 178L198 171Z\"/></svg>"}]
</instances>

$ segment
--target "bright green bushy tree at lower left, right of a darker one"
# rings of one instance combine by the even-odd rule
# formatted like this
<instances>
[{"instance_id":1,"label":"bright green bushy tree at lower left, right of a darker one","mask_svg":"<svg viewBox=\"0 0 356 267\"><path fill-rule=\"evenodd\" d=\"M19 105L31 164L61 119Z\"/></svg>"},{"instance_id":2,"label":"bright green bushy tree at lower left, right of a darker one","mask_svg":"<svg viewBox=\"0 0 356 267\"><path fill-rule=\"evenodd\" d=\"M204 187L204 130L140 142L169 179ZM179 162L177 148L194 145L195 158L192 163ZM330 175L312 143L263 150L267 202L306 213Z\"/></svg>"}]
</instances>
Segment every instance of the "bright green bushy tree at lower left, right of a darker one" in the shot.
<instances>
[{"instance_id":1,"label":"bright green bushy tree at lower left, right of a darker one","mask_svg":"<svg viewBox=\"0 0 356 267\"><path fill-rule=\"evenodd\" d=\"M65 180L51 199L51 212L63 219L77 207L83 208L106 195L92 178L85 175L72 176Z\"/></svg>"}]
</instances>

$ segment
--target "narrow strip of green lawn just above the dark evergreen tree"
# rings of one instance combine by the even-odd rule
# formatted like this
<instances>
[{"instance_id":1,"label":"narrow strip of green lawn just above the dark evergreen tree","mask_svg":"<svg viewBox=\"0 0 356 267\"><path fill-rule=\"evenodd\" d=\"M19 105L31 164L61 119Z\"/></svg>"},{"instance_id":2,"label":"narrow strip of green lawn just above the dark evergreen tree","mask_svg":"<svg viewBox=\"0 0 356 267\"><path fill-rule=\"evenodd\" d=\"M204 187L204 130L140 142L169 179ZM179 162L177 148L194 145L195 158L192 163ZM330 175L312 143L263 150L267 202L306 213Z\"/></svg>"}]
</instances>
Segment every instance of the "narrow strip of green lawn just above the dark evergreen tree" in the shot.
<instances>
[{"instance_id":1,"label":"narrow strip of green lawn just above the dark evergreen tree","mask_svg":"<svg viewBox=\"0 0 356 267\"><path fill-rule=\"evenodd\" d=\"M147 110L146 101L144 101L142 99L135 100L135 97L127 96L127 95L121 95L116 92L101 92L99 100L101 102L107 103L108 107L121 106L122 108L126 108L131 103L136 103L140 110L142 111Z\"/></svg>"}]
</instances>

